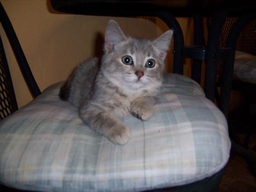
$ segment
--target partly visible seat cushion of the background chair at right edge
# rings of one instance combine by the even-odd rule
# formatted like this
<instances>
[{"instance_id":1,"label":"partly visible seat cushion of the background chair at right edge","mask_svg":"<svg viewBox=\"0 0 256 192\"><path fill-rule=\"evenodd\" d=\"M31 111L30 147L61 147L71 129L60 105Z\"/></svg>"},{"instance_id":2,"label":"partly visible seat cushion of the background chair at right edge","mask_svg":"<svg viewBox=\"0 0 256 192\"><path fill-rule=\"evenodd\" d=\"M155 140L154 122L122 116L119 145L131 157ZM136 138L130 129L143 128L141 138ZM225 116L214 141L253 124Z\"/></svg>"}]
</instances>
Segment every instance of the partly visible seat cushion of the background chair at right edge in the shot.
<instances>
[{"instance_id":1,"label":"partly visible seat cushion of the background chair at right edge","mask_svg":"<svg viewBox=\"0 0 256 192\"><path fill-rule=\"evenodd\" d=\"M233 78L256 84L256 56L236 51Z\"/></svg>"}]
</instances>

